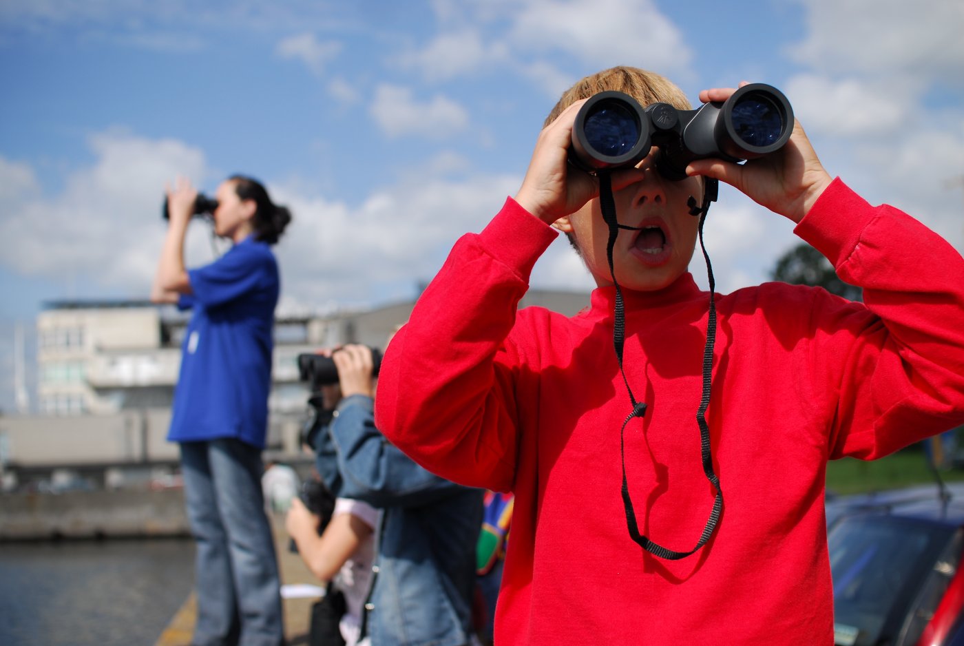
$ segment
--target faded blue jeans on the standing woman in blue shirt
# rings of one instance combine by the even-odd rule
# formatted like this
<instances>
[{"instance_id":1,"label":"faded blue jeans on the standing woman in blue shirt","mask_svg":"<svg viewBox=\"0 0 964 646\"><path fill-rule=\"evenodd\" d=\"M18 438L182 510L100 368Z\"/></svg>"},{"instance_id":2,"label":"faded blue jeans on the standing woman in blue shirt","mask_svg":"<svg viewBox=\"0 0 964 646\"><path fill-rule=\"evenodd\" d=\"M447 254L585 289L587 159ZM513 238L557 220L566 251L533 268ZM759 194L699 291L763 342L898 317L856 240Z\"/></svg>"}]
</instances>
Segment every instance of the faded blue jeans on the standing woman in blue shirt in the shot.
<instances>
[{"instance_id":1,"label":"faded blue jeans on the standing woman in blue shirt","mask_svg":"<svg viewBox=\"0 0 964 646\"><path fill-rule=\"evenodd\" d=\"M279 646L281 584L261 492L261 451L238 440L180 444L197 541L198 646Z\"/></svg>"}]
</instances>

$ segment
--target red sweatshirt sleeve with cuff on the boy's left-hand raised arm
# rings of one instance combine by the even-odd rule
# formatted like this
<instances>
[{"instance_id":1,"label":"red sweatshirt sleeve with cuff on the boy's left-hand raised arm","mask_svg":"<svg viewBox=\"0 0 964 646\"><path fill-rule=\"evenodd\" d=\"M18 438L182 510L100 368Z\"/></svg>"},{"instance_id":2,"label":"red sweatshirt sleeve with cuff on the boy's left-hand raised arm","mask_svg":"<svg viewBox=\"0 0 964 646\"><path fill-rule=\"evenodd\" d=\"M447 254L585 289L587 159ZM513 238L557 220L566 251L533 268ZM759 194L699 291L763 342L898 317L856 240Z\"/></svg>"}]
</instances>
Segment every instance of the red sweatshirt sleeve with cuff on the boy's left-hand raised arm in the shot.
<instances>
[{"instance_id":1,"label":"red sweatshirt sleeve with cuff on the boy's left-hand raised arm","mask_svg":"<svg viewBox=\"0 0 964 646\"><path fill-rule=\"evenodd\" d=\"M557 232L512 199L459 239L386 350L376 423L429 471L509 491L517 356L506 342L529 275Z\"/></svg>"}]
</instances>

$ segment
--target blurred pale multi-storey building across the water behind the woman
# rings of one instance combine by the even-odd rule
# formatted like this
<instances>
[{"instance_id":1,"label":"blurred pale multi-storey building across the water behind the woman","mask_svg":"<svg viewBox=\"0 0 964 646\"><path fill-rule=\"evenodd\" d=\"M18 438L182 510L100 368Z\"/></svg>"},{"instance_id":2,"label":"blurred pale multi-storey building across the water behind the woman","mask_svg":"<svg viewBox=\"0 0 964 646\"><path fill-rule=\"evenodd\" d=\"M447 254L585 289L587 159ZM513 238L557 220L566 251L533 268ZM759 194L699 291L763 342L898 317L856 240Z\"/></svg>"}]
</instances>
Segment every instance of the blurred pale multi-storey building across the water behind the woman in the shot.
<instances>
[{"instance_id":1,"label":"blurred pale multi-storey building across the water behind the woman","mask_svg":"<svg viewBox=\"0 0 964 646\"><path fill-rule=\"evenodd\" d=\"M530 290L521 307L567 314L588 305L585 293ZM357 342L384 347L414 301L332 315L290 315L275 323L271 416L305 411L298 355ZM146 301L48 303L37 320L38 410L42 415L112 415L170 408L189 312Z\"/></svg>"}]
</instances>

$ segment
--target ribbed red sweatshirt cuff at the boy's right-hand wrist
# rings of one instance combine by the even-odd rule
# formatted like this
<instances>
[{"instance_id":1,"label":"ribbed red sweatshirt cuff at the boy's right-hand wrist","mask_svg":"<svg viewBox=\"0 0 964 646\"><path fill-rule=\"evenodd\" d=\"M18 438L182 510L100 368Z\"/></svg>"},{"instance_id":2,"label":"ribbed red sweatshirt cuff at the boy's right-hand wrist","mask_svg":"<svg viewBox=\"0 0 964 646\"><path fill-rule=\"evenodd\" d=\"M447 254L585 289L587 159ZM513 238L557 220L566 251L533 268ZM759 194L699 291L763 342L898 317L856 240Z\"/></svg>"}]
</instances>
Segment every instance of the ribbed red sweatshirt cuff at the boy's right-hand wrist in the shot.
<instances>
[{"instance_id":1,"label":"ribbed red sweatshirt cuff at the boy's right-hand wrist","mask_svg":"<svg viewBox=\"0 0 964 646\"><path fill-rule=\"evenodd\" d=\"M874 217L870 203L836 177L793 232L839 268Z\"/></svg>"}]
</instances>

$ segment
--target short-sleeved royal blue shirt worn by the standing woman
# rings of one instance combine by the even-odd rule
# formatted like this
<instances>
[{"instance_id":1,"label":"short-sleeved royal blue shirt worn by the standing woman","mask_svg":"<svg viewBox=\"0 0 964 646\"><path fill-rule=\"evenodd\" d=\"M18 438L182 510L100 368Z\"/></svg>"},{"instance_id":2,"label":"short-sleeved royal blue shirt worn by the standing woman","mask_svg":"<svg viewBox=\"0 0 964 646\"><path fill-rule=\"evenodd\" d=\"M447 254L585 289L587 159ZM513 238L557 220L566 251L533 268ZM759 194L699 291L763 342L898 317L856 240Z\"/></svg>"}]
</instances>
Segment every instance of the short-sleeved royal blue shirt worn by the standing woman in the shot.
<instances>
[{"instance_id":1,"label":"short-sleeved royal blue shirt worn by the standing woman","mask_svg":"<svg viewBox=\"0 0 964 646\"><path fill-rule=\"evenodd\" d=\"M181 352L168 440L234 438L263 448L281 291L271 247L249 236L188 272L193 308Z\"/></svg>"}]
</instances>

